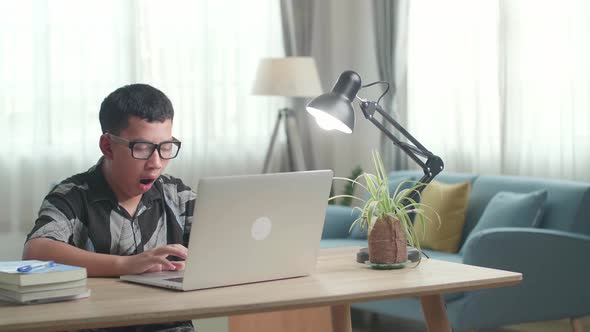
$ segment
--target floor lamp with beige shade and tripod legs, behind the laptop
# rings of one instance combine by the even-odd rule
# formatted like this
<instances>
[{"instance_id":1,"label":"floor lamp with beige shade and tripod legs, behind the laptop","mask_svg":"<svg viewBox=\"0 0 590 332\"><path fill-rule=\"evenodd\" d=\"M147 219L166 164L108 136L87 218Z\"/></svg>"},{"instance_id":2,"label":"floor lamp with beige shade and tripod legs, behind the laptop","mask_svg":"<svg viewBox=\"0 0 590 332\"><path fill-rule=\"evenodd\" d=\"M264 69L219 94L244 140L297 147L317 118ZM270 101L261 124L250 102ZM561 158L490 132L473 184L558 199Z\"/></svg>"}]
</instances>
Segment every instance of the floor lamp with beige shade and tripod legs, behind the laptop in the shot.
<instances>
[{"instance_id":1,"label":"floor lamp with beige shade and tripod legs, behind the laptop","mask_svg":"<svg viewBox=\"0 0 590 332\"><path fill-rule=\"evenodd\" d=\"M315 61L312 57L286 57L265 58L260 61L252 93L265 96L305 98L315 97L322 94L323 91ZM278 112L270 144L264 158L262 173L268 173L279 127L283 121L287 137L289 171L306 169L295 111L286 107Z\"/></svg>"}]
</instances>

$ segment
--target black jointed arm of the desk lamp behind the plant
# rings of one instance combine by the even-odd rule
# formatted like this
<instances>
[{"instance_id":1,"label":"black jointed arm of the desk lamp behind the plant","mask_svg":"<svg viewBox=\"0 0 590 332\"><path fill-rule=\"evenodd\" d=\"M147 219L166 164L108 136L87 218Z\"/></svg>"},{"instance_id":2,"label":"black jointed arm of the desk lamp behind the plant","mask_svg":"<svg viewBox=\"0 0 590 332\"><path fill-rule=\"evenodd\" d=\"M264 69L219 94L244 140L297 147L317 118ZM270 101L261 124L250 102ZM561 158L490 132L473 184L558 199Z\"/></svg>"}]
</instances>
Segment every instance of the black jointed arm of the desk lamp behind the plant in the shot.
<instances>
[{"instance_id":1,"label":"black jointed arm of the desk lamp behind the plant","mask_svg":"<svg viewBox=\"0 0 590 332\"><path fill-rule=\"evenodd\" d=\"M360 103L361 111L367 120L371 121L385 136L387 136L394 145L397 145L402 151L404 151L412 160L418 164L422 171L424 172L424 176L420 179L420 183L428 184L434 179L438 173L442 172L444 169L444 163L442 159L433 154L432 152L428 151L414 136L412 136L404 127L402 127L394 118L392 118L382 107L376 102L373 101L361 101ZM400 141L397 137L395 137L391 131L389 131L385 126L383 126L377 119L373 117L375 112L381 114L381 116L390 123L395 129L397 129L404 137L406 137L412 144L410 145L405 142ZM426 162L423 162L420 157L426 158ZM417 192L412 192L408 198L416 200L416 196L422 192L426 186L421 186L417 189ZM407 201L409 203L409 201Z\"/></svg>"}]
</instances>

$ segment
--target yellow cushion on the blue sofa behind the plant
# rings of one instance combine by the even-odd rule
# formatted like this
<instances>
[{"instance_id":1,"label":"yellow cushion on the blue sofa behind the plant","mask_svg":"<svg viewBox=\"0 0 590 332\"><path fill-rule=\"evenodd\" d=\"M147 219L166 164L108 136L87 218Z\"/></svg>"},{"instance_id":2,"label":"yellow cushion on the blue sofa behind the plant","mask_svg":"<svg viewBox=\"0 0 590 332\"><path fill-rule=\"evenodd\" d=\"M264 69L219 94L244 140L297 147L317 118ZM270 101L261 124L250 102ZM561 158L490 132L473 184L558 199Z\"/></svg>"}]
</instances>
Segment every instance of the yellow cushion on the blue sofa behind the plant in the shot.
<instances>
[{"instance_id":1,"label":"yellow cushion on the blue sofa behind the plant","mask_svg":"<svg viewBox=\"0 0 590 332\"><path fill-rule=\"evenodd\" d=\"M450 253L459 250L470 191L469 181L445 184L434 180L424 188L420 202L432 208L425 208L426 233L423 234L421 224L414 225L423 248ZM440 223L432 210L440 216Z\"/></svg>"}]
</instances>

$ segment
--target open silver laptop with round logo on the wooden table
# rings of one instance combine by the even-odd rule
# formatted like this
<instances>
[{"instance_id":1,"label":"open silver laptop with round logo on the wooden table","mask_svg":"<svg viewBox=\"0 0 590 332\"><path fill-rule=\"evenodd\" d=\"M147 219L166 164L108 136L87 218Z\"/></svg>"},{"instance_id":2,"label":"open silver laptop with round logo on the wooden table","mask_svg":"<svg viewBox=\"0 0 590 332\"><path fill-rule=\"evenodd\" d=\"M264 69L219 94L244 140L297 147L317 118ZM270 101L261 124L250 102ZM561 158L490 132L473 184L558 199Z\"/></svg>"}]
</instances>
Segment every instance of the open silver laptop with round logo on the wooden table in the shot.
<instances>
[{"instance_id":1,"label":"open silver laptop with round logo on the wooden table","mask_svg":"<svg viewBox=\"0 0 590 332\"><path fill-rule=\"evenodd\" d=\"M324 170L203 178L184 271L121 279L187 291L309 275L332 176Z\"/></svg>"}]
</instances>

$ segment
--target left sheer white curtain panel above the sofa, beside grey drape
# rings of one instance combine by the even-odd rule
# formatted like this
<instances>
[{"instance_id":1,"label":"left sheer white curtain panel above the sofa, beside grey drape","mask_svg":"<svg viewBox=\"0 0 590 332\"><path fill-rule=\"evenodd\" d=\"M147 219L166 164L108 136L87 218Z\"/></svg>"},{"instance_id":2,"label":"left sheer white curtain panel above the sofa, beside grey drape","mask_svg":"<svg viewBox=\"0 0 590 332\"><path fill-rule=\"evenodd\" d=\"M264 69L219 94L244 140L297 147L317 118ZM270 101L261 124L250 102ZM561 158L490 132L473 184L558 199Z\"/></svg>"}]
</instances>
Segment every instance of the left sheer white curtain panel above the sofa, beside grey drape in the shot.
<instances>
[{"instance_id":1,"label":"left sheer white curtain panel above the sofa, beside grey drape","mask_svg":"<svg viewBox=\"0 0 590 332\"><path fill-rule=\"evenodd\" d=\"M497 3L412 1L409 12L409 131L446 170L500 172Z\"/></svg>"}]
</instances>

